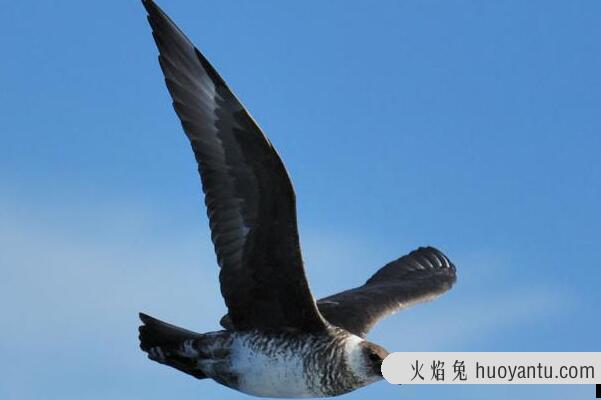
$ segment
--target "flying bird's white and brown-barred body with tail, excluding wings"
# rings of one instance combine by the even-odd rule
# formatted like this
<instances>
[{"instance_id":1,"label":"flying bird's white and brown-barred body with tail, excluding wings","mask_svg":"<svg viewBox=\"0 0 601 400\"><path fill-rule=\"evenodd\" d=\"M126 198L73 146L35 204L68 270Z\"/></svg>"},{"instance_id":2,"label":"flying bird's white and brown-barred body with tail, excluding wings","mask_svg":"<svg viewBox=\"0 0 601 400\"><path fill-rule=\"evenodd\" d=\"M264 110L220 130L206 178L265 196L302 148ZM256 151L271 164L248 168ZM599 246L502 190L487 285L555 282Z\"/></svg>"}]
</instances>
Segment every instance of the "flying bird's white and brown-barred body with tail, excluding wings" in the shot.
<instances>
[{"instance_id":1,"label":"flying bird's white and brown-barred body with tail, excluding wings","mask_svg":"<svg viewBox=\"0 0 601 400\"><path fill-rule=\"evenodd\" d=\"M147 315L142 315L142 320L143 343L147 335L168 338L169 330L181 332ZM161 327L166 327L167 333L160 332ZM255 396L289 398L335 396L380 380L362 354L366 350L387 354L334 326L318 334L222 330L190 334L144 349L152 360L197 378L212 378Z\"/></svg>"}]
</instances>

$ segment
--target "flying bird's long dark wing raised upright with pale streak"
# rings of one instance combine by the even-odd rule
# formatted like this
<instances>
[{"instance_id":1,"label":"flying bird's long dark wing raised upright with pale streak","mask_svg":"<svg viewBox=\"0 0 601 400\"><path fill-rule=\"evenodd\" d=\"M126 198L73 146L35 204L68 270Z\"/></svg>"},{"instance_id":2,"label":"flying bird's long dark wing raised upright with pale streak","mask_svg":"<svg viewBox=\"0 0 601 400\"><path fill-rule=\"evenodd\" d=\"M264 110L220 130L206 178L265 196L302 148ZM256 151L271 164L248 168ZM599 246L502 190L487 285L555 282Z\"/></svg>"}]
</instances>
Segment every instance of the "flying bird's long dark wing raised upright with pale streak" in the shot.
<instances>
[{"instance_id":1,"label":"flying bird's long dark wing raised upright with pale streak","mask_svg":"<svg viewBox=\"0 0 601 400\"><path fill-rule=\"evenodd\" d=\"M198 162L236 329L323 329L305 277L292 183L282 160L206 58L143 0L173 106Z\"/></svg>"}]
</instances>

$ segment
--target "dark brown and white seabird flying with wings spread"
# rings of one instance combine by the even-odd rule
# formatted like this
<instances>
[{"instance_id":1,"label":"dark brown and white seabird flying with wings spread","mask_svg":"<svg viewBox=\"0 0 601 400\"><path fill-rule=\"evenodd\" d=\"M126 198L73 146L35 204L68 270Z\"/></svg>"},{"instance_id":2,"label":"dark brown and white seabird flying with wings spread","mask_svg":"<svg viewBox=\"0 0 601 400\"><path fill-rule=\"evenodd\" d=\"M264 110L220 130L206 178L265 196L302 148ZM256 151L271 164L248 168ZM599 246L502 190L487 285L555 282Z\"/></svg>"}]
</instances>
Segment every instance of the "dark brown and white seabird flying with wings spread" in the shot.
<instances>
[{"instance_id":1,"label":"dark brown and white seabird flying with wings spread","mask_svg":"<svg viewBox=\"0 0 601 400\"><path fill-rule=\"evenodd\" d=\"M420 247L363 285L316 300L281 157L205 56L142 0L173 107L198 164L227 314L197 333L140 313L149 359L258 397L331 397L382 378L374 324L451 288L456 268Z\"/></svg>"}]
</instances>

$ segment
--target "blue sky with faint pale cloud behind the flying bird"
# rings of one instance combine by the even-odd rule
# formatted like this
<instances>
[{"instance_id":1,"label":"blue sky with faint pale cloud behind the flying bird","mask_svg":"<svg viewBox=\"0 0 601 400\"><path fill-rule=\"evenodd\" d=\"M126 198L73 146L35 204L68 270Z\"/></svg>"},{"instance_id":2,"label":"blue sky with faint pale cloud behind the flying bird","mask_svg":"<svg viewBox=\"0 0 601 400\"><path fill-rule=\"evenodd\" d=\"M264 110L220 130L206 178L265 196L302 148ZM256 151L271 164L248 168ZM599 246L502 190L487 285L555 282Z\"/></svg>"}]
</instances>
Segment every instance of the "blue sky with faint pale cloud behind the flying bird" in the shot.
<instances>
[{"instance_id":1,"label":"blue sky with faint pale cloud behind the flying bird","mask_svg":"<svg viewBox=\"0 0 601 400\"><path fill-rule=\"evenodd\" d=\"M601 3L184 1L294 181L316 296L421 245L459 280L391 351L601 351ZM138 311L224 306L189 145L137 1L0 0L0 398L236 399L147 361ZM590 399L392 386L348 399Z\"/></svg>"}]
</instances>

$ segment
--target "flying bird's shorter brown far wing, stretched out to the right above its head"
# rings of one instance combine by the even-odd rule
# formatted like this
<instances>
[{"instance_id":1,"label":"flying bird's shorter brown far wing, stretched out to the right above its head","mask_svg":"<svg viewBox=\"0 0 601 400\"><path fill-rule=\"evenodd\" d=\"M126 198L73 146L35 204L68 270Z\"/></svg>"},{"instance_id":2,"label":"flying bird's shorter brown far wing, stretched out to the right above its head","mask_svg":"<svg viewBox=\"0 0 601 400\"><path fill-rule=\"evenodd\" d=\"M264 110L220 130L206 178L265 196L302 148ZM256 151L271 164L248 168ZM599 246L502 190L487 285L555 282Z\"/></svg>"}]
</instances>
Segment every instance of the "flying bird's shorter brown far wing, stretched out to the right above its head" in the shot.
<instances>
[{"instance_id":1,"label":"flying bird's shorter brown far wing, stretched out to the right above its head","mask_svg":"<svg viewBox=\"0 0 601 400\"><path fill-rule=\"evenodd\" d=\"M455 266L444 254L419 248L386 264L365 285L321 299L317 306L331 324L365 337L379 319L439 296L455 279Z\"/></svg>"}]
</instances>

